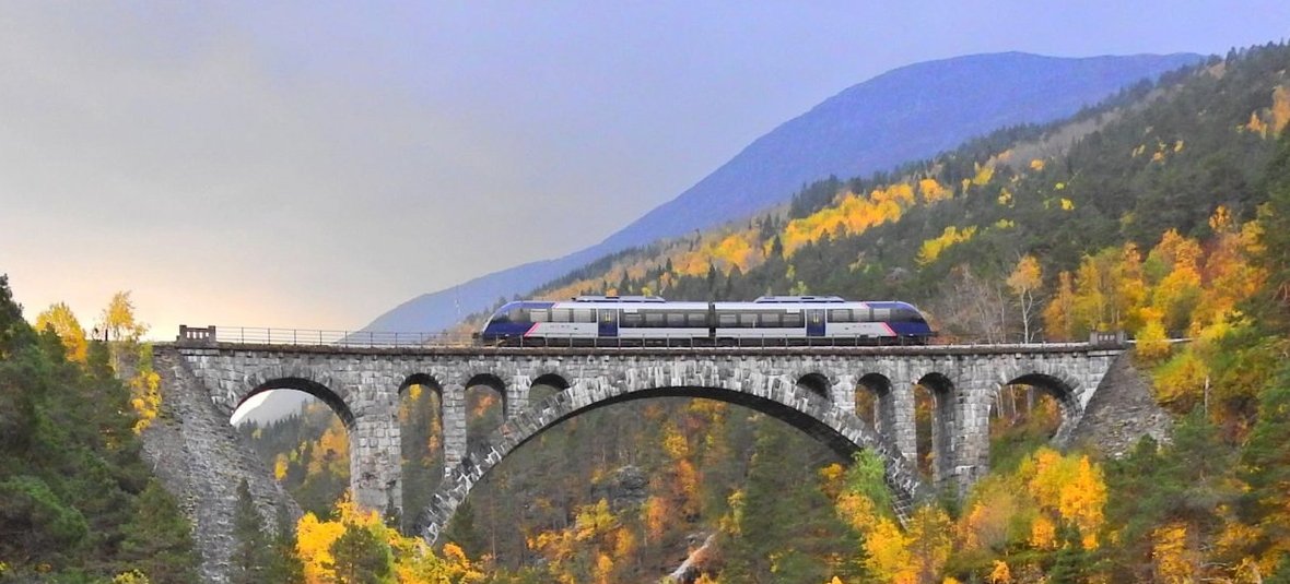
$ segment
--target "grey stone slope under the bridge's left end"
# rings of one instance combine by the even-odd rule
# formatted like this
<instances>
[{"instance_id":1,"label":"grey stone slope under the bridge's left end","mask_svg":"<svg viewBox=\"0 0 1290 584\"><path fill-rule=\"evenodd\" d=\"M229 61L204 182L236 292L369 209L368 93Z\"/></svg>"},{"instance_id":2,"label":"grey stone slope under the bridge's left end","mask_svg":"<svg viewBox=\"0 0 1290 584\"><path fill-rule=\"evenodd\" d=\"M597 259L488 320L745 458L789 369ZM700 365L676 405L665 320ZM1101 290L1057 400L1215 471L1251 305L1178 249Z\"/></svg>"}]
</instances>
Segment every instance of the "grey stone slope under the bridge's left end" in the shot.
<instances>
[{"instance_id":1,"label":"grey stone slope under the bridge's left end","mask_svg":"<svg viewBox=\"0 0 1290 584\"><path fill-rule=\"evenodd\" d=\"M277 525L280 512L299 518L301 508L240 438L228 415L215 409L183 360L166 351L154 358L161 375L161 414L143 432L143 456L194 525L203 580L224 583L235 545L237 485L244 478L266 529Z\"/></svg>"}]
</instances>

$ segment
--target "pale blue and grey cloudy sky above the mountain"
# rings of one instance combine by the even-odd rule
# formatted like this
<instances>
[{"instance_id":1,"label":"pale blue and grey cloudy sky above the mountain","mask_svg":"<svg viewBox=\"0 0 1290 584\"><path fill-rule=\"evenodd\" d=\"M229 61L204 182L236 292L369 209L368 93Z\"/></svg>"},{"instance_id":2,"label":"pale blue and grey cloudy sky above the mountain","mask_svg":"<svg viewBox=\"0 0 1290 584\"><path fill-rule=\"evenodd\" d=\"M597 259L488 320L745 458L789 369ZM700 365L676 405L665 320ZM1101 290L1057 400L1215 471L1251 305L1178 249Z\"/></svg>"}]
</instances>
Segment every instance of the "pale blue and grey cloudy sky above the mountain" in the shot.
<instances>
[{"instance_id":1,"label":"pale blue and grey cloudy sky above the mountain","mask_svg":"<svg viewBox=\"0 0 1290 584\"><path fill-rule=\"evenodd\" d=\"M0 273L89 329L353 330L593 245L909 63L1218 53L1281 1L0 3Z\"/></svg>"}]
</instances>

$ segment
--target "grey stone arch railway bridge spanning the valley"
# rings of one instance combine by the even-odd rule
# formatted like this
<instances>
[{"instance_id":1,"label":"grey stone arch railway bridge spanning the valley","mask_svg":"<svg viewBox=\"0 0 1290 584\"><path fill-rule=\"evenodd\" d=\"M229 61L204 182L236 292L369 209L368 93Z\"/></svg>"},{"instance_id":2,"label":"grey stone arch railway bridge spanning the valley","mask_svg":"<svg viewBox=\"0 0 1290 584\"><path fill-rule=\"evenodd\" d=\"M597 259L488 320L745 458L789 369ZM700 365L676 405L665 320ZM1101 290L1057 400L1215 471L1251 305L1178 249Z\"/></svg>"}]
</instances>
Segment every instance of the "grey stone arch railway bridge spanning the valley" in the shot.
<instances>
[{"instance_id":1,"label":"grey stone arch railway bridge spanning the valley","mask_svg":"<svg viewBox=\"0 0 1290 584\"><path fill-rule=\"evenodd\" d=\"M1028 384L1057 398L1064 443L1120 344L1004 344L778 348L484 348L280 346L181 339L173 351L231 415L249 397L292 388L326 402L348 428L357 503L402 509L399 400L421 384L439 393L445 477L417 530L433 541L473 485L520 445L578 414L632 400L689 396L765 413L850 458L877 453L897 512L925 487L913 465L915 385L934 396L933 480L966 487L987 472L989 409L997 389ZM467 443L466 389L502 396L503 423ZM530 400L530 388L561 389ZM875 420L855 414L855 392L876 397Z\"/></svg>"}]
</instances>

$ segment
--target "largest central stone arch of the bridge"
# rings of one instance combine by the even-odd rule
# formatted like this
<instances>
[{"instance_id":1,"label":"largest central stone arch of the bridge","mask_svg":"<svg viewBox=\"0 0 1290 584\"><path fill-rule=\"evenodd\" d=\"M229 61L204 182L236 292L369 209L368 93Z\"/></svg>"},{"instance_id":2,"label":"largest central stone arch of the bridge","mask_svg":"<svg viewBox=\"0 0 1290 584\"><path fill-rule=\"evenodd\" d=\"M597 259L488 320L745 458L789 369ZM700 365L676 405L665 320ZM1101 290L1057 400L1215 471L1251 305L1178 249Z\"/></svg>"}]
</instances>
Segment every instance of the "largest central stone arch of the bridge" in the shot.
<instances>
[{"instance_id":1,"label":"largest central stone arch of the bridge","mask_svg":"<svg viewBox=\"0 0 1290 584\"><path fill-rule=\"evenodd\" d=\"M533 404L528 411L507 419L486 441L476 445L454 468L435 494L431 505L417 518L415 530L435 541L452 520L457 507L473 486L520 446L543 432L580 414L614 404L655 397L703 397L735 404L788 423L850 459L858 450L876 451L886 467L886 482L895 495L897 514L904 520L922 489L917 471L868 424L855 415L833 407L826 398L792 380L768 379L765 388L667 385L624 389L611 384L583 385Z\"/></svg>"}]
</instances>

